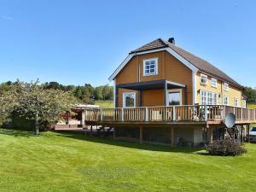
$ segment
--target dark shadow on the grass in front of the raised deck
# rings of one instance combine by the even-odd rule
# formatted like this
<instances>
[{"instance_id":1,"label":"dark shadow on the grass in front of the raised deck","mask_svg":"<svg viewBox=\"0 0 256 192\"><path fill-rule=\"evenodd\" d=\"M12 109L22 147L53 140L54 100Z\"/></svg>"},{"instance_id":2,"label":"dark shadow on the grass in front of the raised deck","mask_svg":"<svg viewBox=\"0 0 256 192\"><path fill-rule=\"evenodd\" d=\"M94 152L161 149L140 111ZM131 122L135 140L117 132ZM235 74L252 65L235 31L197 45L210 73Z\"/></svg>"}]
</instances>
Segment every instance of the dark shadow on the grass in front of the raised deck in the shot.
<instances>
[{"instance_id":1,"label":"dark shadow on the grass in front of the raised deck","mask_svg":"<svg viewBox=\"0 0 256 192\"><path fill-rule=\"evenodd\" d=\"M183 154L198 154L202 153L202 148L171 148L170 146L154 145L148 143L136 143L129 141L113 140L110 137L95 137L95 136L84 136L79 132L71 131L55 131L59 137L69 137L73 139L84 140L92 143L103 143L123 148L137 148L148 151L159 151L159 152L172 152L172 153L183 153Z\"/></svg>"}]
</instances>

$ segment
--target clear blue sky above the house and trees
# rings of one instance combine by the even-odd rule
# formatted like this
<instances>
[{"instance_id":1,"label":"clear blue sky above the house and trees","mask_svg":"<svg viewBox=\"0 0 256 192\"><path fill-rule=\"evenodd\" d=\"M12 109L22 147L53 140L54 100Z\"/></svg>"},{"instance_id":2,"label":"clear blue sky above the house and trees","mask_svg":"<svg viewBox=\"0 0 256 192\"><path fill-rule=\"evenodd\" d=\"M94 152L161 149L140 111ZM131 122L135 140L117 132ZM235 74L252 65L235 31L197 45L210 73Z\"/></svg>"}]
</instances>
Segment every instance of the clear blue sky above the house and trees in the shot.
<instances>
[{"instance_id":1,"label":"clear blue sky above the house and trees","mask_svg":"<svg viewBox=\"0 0 256 192\"><path fill-rule=\"evenodd\" d=\"M0 82L108 84L131 49L155 38L256 86L253 1L0 0Z\"/></svg>"}]
</instances>

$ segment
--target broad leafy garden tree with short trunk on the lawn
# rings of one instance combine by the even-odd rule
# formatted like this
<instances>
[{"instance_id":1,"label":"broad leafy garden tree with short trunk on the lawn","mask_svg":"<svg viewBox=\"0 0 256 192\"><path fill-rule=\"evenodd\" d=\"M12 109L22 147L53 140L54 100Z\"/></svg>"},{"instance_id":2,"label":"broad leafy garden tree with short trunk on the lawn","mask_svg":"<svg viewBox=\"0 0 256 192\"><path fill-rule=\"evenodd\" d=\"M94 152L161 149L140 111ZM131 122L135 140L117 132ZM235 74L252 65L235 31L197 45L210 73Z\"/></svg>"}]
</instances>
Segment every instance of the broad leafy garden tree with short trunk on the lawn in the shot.
<instances>
[{"instance_id":1,"label":"broad leafy garden tree with short trunk on the lawn","mask_svg":"<svg viewBox=\"0 0 256 192\"><path fill-rule=\"evenodd\" d=\"M9 98L10 97L10 98ZM71 110L72 104L76 102L73 96L63 90L45 89L38 81L24 83L17 81L3 95L3 101L15 101L9 111L16 111L26 119L35 122L35 133L39 134L39 126L45 122L52 124L61 119L61 115Z\"/></svg>"}]
</instances>

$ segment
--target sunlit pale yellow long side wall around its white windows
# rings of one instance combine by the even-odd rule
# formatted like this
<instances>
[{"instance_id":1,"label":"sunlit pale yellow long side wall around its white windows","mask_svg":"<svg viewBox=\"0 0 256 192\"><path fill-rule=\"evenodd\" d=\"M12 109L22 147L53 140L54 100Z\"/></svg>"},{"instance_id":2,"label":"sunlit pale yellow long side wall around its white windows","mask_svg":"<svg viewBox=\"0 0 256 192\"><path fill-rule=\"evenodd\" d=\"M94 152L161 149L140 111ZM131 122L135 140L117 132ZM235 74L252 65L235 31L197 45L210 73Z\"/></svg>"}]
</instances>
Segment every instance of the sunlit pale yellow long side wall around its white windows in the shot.
<instances>
[{"instance_id":1,"label":"sunlit pale yellow long side wall around its white windows","mask_svg":"<svg viewBox=\"0 0 256 192\"><path fill-rule=\"evenodd\" d=\"M214 78L214 77L213 77ZM215 78L216 79L216 78ZM201 73L196 74L196 102L201 104L201 95L198 90L207 90L212 93L220 95L218 97L218 105L222 105L224 96L229 96L229 105L235 105L235 98L238 99L238 107L242 107L242 90L236 88L232 84L230 85L229 91L224 90L224 81L218 80L217 88L212 87L212 76L207 75L207 85L201 84Z\"/></svg>"}]
</instances>

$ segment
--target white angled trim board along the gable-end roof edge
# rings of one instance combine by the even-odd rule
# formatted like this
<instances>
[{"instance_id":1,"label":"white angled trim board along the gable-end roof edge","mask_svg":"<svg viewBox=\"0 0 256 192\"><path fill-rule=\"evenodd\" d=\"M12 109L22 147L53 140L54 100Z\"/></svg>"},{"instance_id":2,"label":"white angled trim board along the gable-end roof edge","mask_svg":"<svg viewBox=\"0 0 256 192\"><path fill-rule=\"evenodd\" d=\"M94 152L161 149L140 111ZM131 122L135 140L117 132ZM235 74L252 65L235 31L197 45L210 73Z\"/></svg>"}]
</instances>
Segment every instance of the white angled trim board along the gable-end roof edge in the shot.
<instances>
[{"instance_id":1,"label":"white angled trim board along the gable-end roof edge","mask_svg":"<svg viewBox=\"0 0 256 192\"><path fill-rule=\"evenodd\" d=\"M139 52L139 53L133 53L128 55L125 58L125 61L123 61L119 67L113 72L113 74L108 78L109 81L113 80L117 74L125 67L125 65L131 60L131 58L134 55L144 55L144 54L148 54L148 53L154 53L154 52L159 52L162 50L166 50L169 54L173 55L175 58L177 58L178 61L181 61L186 67L189 67L189 69L192 70L192 72L197 72L198 68L195 67L191 62L189 62L188 60L186 60L185 58L183 58L183 56L177 54L176 51L174 51L171 48L161 48L161 49L154 49L154 50L148 50L148 51L143 51L143 52Z\"/></svg>"}]
</instances>

